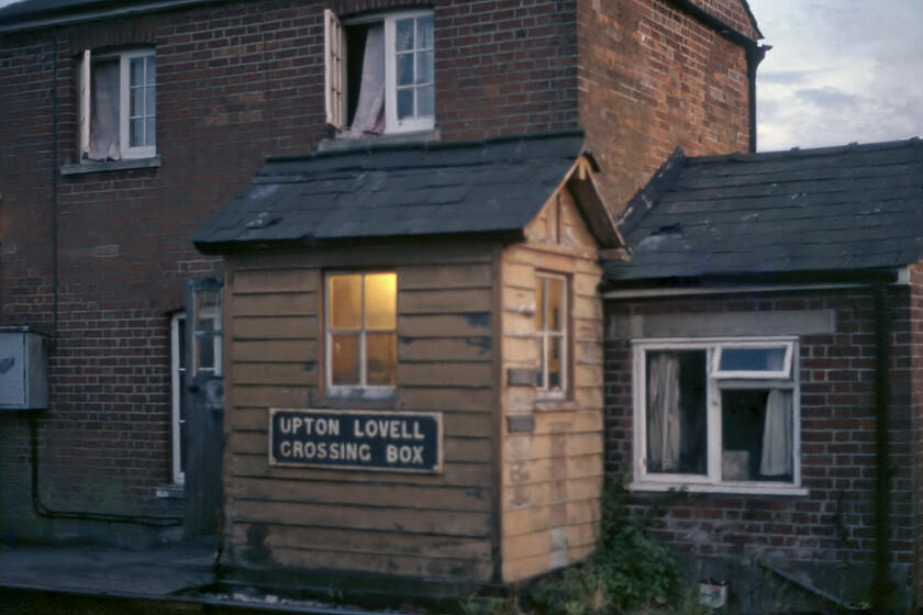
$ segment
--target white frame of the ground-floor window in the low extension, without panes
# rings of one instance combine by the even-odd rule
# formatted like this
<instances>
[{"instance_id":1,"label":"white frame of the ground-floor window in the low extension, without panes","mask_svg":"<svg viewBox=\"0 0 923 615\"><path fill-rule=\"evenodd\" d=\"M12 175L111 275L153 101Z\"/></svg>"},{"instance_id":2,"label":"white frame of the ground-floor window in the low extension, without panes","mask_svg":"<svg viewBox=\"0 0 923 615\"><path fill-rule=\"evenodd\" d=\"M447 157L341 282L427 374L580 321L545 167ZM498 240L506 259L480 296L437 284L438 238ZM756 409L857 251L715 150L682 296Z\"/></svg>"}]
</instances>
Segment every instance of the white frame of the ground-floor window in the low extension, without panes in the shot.
<instances>
[{"instance_id":1,"label":"white frame of the ground-floor window in the low extension, without panes","mask_svg":"<svg viewBox=\"0 0 923 615\"><path fill-rule=\"evenodd\" d=\"M766 372L720 371L718 360L723 348L786 348L785 369ZM798 338L734 337L734 338L669 338L637 339L633 350L633 483L638 491L687 490L690 492L753 493L803 495L801 488L801 403L798 373ZM707 472L705 474L648 472L647 459L647 353L668 350L703 350L707 353ZM786 389L792 394L792 479L780 481L722 480L722 407L721 391L731 389Z\"/></svg>"}]
</instances>

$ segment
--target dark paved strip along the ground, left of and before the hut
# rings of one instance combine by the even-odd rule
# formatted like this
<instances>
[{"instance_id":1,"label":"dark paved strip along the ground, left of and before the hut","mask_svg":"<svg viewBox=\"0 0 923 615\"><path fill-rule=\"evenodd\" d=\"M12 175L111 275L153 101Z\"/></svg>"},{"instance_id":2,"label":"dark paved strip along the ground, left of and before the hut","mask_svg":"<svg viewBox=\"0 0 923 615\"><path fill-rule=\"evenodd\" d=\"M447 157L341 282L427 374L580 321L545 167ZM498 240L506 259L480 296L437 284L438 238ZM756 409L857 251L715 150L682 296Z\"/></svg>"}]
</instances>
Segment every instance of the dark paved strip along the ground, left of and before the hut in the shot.
<instances>
[{"instance_id":1,"label":"dark paved strip along the ground, left of and before the hut","mask_svg":"<svg viewBox=\"0 0 923 615\"><path fill-rule=\"evenodd\" d=\"M262 589L229 582L213 546L123 549L93 545L0 545L0 615L431 613L393 608L371 596L363 606L318 600L299 585Z\"/></svg>"}]
</instances>

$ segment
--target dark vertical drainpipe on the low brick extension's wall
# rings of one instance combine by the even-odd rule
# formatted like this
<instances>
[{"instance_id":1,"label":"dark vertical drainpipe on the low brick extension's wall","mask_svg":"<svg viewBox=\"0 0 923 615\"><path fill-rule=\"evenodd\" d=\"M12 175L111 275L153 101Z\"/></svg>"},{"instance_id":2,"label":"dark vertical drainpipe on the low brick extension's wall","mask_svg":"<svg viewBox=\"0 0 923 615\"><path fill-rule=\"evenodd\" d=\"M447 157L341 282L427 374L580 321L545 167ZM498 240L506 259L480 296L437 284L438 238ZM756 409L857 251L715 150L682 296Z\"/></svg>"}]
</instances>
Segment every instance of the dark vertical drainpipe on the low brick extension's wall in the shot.
<instances>
[{"instance_id":1,"label":"dark vertical drainpipe on the low brick extension's wall","mask_svg":"<svg viewBox=\"0 0 923 615\"><path fill-rule=\"evenodd\" d=\"M872 607L891 606L894 585L891 582L891 557L888 540L891 537L892 474L890 460L891 429L891 312L888 308L887 286L871 286L875 303L875 578L872 579Z\"/></svg>"}]
</instances>

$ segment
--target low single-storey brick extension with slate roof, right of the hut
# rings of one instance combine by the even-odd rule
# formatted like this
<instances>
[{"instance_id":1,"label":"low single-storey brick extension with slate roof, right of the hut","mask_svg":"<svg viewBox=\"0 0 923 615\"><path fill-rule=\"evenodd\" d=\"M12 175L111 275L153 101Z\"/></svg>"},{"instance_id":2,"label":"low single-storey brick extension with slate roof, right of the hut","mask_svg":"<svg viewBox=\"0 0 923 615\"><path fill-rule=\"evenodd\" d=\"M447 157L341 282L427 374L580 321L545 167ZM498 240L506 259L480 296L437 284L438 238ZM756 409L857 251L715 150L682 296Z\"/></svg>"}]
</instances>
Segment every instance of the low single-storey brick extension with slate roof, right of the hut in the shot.
<instances>
[{"instance_id":1,"label":"low single-storey brick extension with slate roof, right of the hut","mask_svg":"<svg viewBox=\"0 0 923 615\"><path fill-rule=\"evenodd\" d=\"M677 153L624 211L607 462L703 578L919 600L921 179L918 139Z\"/></svg>"}]
</instances>

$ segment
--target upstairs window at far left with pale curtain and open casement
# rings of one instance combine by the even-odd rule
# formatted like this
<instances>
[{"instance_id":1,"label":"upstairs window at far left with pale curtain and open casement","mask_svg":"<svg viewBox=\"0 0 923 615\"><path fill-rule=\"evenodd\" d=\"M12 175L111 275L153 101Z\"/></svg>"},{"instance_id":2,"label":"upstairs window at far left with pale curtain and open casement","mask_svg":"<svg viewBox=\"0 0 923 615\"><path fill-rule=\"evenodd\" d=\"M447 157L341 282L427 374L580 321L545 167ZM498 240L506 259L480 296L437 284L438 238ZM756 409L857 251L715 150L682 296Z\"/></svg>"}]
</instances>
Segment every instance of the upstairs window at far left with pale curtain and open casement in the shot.
<instances>
[{"instance_id":1,"label":"upstairs window at far left with pale curtain and open casement","mask_svg":"<svg viewBox=\"0 0 923 615\"><path fill-rule=\"evenodd\" d=\"M80 150L88 160L156 154L154 49L96 53L80 63Z\"/></svg>"}]
</instances>

